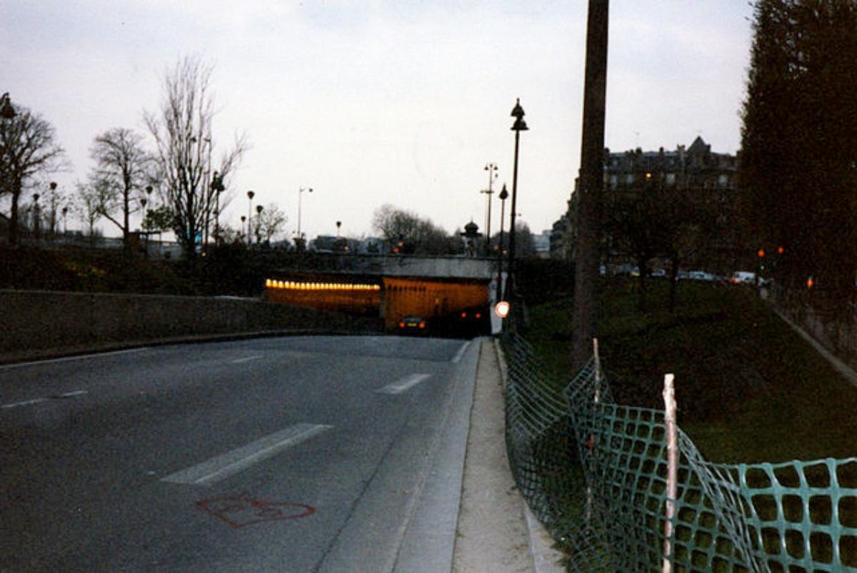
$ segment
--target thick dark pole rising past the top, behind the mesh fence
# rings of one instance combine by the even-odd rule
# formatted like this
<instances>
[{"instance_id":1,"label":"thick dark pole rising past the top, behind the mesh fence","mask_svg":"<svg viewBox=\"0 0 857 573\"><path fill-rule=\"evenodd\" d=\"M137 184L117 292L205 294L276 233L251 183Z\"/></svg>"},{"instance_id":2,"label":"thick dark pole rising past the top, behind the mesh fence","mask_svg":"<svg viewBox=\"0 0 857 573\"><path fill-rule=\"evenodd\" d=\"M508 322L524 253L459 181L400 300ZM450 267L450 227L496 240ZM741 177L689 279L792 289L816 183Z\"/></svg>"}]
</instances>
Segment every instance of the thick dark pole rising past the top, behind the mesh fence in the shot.
<instances>
[{"instance_id":1,"label":"thick dark pole rising past the top, behind the mesh fence","mask_svg":"<svg viewBox=\"0 0 857 573\"><path fill-rule=\"evenodd\" d=\"M600 234L599 203L604 187L604 109L607 95L609 0L589 0L586 24L584 125L580 153L578 241L574 272L572 368L591 354L596 333L596 280Z\"/></svg>"}]
</instances>

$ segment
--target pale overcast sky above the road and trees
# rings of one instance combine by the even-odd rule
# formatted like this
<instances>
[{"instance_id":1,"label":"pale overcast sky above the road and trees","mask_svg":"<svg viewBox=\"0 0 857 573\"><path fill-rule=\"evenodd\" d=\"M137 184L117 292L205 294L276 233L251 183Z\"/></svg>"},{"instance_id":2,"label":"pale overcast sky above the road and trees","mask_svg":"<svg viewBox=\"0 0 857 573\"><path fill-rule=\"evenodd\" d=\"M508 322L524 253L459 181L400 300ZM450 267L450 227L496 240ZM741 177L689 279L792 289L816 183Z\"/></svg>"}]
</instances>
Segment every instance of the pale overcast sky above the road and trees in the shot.
<instances>
[{"instance_id":1,"label":"pale overcast sky above the road and trees","mask_svg":"<svg viewBox=\"0 0 857 573\"><path fill-rule=\"evenodd\" d=\"M580 162L586 2L548 0L2 0L0 92L57 128L69 191L108 128L146 134L165 69L214 66L215 149L252 149L223 220L275 203L308 236L372 235L385 203L447 231L484 230L484 166L512 188L520 98L518 212L540 232L566 211ZM746 0L610 3L607 129L613 151L740 145L749 63ZM499 200L492 231L499 227ZM508 210L506 210L508 211ZM77 226L75 224L75 226ZM507 226L507 225L506 225ZM69 228L72 224L69 222ZM104 226L108 234L114 230Z\"/></svg>"}]
</instances>

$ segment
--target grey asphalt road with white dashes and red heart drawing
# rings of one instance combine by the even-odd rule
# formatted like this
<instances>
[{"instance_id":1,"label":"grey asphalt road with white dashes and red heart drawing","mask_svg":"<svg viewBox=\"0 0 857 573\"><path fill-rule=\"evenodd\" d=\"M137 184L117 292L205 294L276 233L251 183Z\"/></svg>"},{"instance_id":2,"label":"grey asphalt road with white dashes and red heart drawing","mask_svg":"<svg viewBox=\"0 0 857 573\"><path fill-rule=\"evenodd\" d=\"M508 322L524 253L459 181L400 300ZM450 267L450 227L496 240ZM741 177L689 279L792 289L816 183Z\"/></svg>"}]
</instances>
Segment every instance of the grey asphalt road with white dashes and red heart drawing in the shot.
<instances>
[{"instance_id":1,"label":"grey asphalt road with white dashes and red heart drawing","mask_svg":"<svg viewBox=\"0 0 857 573\"><path fill-rule=\"evenodd\" d=\"M449 570L476 343L0 367L0 571Z\"/></svg>"}]
</instances>

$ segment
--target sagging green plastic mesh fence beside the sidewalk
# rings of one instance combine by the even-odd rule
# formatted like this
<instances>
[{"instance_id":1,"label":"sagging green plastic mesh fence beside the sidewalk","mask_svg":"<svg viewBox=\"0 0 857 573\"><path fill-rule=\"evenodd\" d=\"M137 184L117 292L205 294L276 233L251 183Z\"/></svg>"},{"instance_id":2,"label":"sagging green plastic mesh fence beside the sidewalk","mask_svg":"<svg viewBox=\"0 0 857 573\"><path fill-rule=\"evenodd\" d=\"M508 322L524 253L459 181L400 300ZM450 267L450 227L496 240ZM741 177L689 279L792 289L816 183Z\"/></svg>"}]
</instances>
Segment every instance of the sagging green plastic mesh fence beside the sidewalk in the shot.
<instances>
[{"instance_id":1,"label":"sagging green plastic mesh fence beside the sidewalk","mask_svg":"<svg viewBox=\"0 0 857 573\"><path fill-rule=\"evenodd\" d=\"M663 412L614 403L592 362L559 390L523 338L503 349L512 473L568 569L661 570ZM857 570L857 458L708 463L680 431L679 450L674 571Z\"/></svg>"}]
</instances>

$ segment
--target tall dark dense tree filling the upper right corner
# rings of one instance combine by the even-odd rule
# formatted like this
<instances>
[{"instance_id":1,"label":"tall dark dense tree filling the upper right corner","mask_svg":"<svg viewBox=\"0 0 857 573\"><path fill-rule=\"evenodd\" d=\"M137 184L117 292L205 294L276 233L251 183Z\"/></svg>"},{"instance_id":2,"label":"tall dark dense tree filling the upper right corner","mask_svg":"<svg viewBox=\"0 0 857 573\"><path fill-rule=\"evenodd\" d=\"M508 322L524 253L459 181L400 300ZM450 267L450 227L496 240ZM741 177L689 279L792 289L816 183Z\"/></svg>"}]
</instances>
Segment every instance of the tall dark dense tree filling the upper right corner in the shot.
<instances>
[{"instance_id":1,"label":"tall dark dense tree filling the upper right corner","mask_svg":"<svg viewBox=\"0 0 857 573\"><path fill-rule=\"evenodd\" d=\"M752 252L844 300L854 286L857 4L758 0L740 186Z\"/></svg>"}]
</instances>

